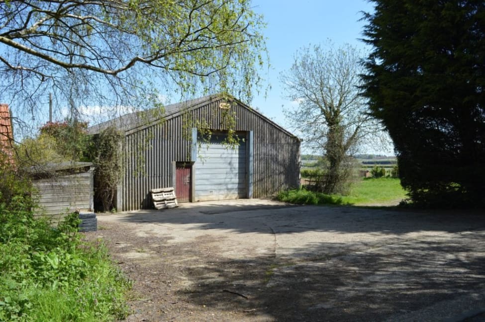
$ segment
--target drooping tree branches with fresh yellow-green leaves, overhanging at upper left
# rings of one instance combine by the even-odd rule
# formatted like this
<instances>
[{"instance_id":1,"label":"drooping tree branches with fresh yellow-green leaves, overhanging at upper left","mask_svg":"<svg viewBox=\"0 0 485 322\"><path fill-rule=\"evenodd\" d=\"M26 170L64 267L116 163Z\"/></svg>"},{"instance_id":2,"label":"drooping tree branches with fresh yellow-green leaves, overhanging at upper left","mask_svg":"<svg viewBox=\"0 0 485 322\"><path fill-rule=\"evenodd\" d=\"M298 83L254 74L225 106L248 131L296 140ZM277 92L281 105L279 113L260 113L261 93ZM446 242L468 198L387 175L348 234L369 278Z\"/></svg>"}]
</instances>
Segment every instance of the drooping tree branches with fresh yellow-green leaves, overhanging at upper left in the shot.
<instances>
[{"instance_id":1,"label":"drooping tree branches with fresh yellow-green leaves, overhanging at upper left","mask_svg":"<svg viewBox=\"0 0 485 322\"><path fill-rule=\"evenodd\" d=\"M73 114L154 107L166 92L249 100L263 27L250 0L0 1L1 100L29 118L48 92Z\"/></svg>"}]
</instances>

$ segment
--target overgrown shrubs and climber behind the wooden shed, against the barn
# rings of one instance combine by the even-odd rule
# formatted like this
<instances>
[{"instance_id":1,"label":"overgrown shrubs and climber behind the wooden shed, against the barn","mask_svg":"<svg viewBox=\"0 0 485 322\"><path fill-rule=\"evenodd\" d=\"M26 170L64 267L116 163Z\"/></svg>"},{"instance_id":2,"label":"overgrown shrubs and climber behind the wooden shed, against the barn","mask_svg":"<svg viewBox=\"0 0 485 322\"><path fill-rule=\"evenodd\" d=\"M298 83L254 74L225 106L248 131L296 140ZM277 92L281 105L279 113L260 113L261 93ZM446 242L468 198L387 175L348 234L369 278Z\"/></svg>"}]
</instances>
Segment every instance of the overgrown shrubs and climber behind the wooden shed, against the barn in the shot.
<instances>
[{"instance_id":1,"label":"overgrown shrubs and climber behind the wooden shed, against the barn","mask_svg":"<svg viewBox=\"0 0 485 322\"><path fill-rule=\"evenodd\" d=\"M96 209L111 211L123 171L123 154L120 147L124 136L114 127L108 127L98 135L90 136L87 127L87 123L76 120L45 124L36 137L24 139L16 146L18 167L62 161L93 162Z\"/></svg>"}]
</instances>

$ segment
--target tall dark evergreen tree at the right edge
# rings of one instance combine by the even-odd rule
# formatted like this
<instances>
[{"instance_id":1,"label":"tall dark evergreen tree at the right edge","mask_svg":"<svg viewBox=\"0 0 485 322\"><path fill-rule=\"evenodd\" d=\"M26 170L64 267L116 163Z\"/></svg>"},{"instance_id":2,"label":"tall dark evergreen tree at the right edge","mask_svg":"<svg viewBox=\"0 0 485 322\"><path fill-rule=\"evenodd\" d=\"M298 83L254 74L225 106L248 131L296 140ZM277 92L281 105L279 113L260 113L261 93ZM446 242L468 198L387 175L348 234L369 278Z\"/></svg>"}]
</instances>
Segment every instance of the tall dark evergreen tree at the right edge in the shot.
<instances>
[{"instance_id":1,"label":"tall dark evergreen tree at the right edge","mask_svg":"<svg viewBox=\"0 0 485 322\"><path fill-rule=\"evenodd\" d=\"M485 204L485 1L373 0L365 95L402 185L429 206Z\"/></svg>"}]
</instances>

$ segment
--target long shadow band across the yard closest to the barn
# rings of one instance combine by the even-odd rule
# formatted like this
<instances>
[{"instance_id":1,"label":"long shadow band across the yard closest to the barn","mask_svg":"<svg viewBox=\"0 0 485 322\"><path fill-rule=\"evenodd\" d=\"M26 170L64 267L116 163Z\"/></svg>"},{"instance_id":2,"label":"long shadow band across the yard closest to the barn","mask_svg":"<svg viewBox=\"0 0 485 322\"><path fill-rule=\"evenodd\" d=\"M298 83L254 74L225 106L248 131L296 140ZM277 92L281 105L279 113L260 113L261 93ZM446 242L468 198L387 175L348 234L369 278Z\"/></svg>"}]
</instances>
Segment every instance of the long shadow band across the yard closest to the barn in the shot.
<instances>
[{"instance_id":1,"label":"long shadow band across the yard closest to the barn","mask_svg":"<svg viewBox=\"0 0 485 322\"><path fill-rule=\"evenodd\" d=\"M186 204L187 205L187 204ZM142 210L120 221L188 225L190 229L231 230L239 233L295 232L406 234L415 231L459 232L485 227L480 211L408 211L351 206L295 206L276 204L188 204L167 210ZM266 227L266 228L265 228Z\"/></svg>"}]
</instances>

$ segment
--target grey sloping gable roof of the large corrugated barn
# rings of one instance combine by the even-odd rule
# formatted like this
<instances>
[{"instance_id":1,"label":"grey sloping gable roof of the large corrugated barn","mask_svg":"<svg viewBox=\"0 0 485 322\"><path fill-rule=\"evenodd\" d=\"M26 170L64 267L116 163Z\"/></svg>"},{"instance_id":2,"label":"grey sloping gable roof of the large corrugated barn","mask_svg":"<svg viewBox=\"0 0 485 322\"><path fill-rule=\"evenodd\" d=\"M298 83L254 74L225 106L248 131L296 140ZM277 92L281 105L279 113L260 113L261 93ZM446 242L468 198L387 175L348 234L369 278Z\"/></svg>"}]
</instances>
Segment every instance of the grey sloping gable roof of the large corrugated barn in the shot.
<instances>
[{"instance_id":1,"label":"grey sloping gable roof of the large corrugated barn","mask_svg":"<svg viewBox=\"0 0 485 322\"><path fill-rule=\"evenodd\" d=\"M200 98L195 98L195 99L190 99L184 102L180 103L175 103L175 104L170 104L164 106L164 113L160 114L157 113L156 109L151 109L147 111L139 111L139 112L133 112L129 114L122 115L120 117L117 117L115 119L102 122L100 124L94 125L92 127L88 128L88 133L89 134L98 134L102 130L106 129L109 126L114 125L117 129L126 132L134 132L136 130L141 130L143 128L149 127L153 124L156 124L159 122L161 119L171 119L176 116L179 116L183 112L189 111L189 110L194 110L197 109L198 107L204 106L208 103L217 101L222 99L222 96L219 94L213 94L213 95L207 95L203 96ZM285 128L281 127L271 119L267 118L260 112L256 111L255 109L249 107L248 105L242 103L241 101L232 98L232 100L236 101L240 105L246 107L248 110L250 110L252 113L258 115L259 117L263 118L265 121L273 124L275 127L280 129L281 131L287 133L291 137L294 137L298 140L294 134L286 130Z\"/></svg>"}]
</instances>

